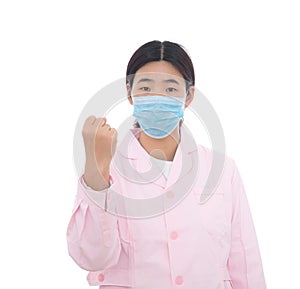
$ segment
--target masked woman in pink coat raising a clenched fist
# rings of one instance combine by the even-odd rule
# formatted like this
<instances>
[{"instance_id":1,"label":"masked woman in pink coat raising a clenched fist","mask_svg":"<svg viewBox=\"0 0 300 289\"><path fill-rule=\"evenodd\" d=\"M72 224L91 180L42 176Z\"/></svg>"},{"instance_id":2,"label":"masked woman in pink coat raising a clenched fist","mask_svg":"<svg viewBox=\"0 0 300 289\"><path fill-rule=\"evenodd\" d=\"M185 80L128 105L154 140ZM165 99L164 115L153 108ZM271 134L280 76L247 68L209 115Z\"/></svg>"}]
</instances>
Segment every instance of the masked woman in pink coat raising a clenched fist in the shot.
<instances>
[{"instance_id":1,"label":"masked woman in pink coat raising a clenched fist","mask_svg":"<svg viewBox=\"0 0 300 289\"><path fill-rule=\"evenodd\" d=\"M212 152L193 146L183 125L194 97L190 57L176 43L151 41L133 54L126 75L136 118L128 147L116 150L117 132L106 118L90 116L83 126L86 165L67 231L70 256L100 288L265 289L251 212L232 159L226 157L215 193L197 203ZM192 156L201 169L195 170ZM162 167L158 177L147 175ZM113 200L113 193L124 199ZM150 198L160 196L150 206ZM124 206L125 197L137 202ZM173 200L180 202L169 206Z\"/></svg>"}]
</instances>

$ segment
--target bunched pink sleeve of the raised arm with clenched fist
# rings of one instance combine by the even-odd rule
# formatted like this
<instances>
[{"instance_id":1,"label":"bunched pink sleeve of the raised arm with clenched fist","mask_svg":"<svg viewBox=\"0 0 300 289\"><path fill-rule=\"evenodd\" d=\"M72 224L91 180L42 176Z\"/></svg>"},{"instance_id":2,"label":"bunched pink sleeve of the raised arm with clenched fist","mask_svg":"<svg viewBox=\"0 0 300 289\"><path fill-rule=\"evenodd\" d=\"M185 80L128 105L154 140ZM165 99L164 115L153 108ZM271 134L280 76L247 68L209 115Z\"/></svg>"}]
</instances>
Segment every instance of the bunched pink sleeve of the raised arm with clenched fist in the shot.
<instances>
[{"instance_id":1,"label":"bunched pink sleeve of the raised arm with clenched fist","mask_svg":"<svg viewBox=\"0 0 300 289\"><path fill-rule=\"evenodd\" d=\"M69 255L82 269L104 270L118 262L121 243L117 218L105 211L108 189L94 191L78 179L78 190L67 228Z\"/></svg>"}]
</instances>

